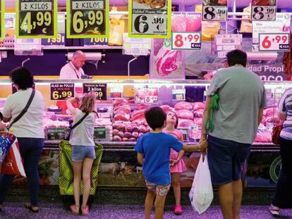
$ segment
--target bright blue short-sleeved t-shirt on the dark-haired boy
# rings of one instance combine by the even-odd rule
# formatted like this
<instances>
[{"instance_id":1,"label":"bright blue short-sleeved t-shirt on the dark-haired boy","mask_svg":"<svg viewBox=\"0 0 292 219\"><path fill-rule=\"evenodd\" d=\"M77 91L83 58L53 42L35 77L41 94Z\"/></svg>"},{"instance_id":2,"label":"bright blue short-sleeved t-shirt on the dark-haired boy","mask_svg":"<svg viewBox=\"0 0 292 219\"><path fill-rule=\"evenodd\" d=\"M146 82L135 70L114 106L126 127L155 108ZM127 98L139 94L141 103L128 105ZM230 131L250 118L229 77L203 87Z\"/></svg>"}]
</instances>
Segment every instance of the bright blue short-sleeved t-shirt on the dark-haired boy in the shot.
<instances>
[{"instance_id":1,"label":"bright blue short-sleeved t-shirt on the dark-haired boy","mask_svg":"<svg viewBox=\"0 0 292 219\"><path fill-rule=\"evenodd\" d=\"M170 184L170 150L181 151L183 143L164 132L143 134L135 145L135 151L144 155L145 180L154 184Z\"/></svg>"}]
</instances>

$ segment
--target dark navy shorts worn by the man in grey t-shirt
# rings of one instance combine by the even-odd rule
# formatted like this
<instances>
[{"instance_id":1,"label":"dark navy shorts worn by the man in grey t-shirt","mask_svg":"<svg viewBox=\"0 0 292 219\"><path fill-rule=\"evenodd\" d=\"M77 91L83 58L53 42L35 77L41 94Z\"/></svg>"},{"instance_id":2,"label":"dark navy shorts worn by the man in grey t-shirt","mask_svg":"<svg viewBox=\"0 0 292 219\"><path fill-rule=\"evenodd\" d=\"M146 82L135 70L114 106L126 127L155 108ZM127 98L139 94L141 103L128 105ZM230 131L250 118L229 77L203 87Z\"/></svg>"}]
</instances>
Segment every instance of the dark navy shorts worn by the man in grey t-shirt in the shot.
<instances>
[{"instance_id":1,"label":"dark navy shorts worn by the man in grey t-shirt","mask_svg":"<svg viewBox=\"0 0 292 219\"><path fill-rule=\"evenodd\" d=\"M212 184L227 184L241 179L241 168L250 155L250 144L208 136L208 163Z\"/></svg>"}]
</instances>

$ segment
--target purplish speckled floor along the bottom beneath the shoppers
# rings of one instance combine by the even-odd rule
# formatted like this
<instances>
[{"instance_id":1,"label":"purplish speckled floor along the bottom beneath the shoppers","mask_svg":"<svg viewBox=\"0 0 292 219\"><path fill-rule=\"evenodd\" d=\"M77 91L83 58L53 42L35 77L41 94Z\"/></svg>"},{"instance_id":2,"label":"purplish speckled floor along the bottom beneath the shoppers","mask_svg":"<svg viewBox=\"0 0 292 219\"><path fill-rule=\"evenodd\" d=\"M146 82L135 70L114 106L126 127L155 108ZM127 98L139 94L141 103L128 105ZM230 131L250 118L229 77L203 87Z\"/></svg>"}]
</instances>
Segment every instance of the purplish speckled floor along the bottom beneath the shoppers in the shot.
<instances>
[{"instance_id":1,"label":"purplish speckled floor along the bottom beneath the shoppers","mask_svg":"<svg viewBox=\"0 0 292 219\"><path fill-rule=\"evenodd\" d=\"M30 213L28 209L23 207L23 204L8 203L4 204L3 212L0 213L0 218L4 219L54 219L54 218L84 218L81 216L74 216L70 211L66 211L62 204L41 204L39 213ZM292 218L292 210L282 210L282 217ZM114 206L114 205L92 205L90 215L86 218L95 219L142 219L144 216L144 209L142 206ZM154 218L154 215L152 215ZM166 206L165 219L220 219L221 212L219 206L211 206L206 213L198 215L190 206L183 207L182 215L174 215L172 207ZM273 218L267 211L267 206L243 206L241 211L242 219L269 219Z\"/></svg>"}]
</instances>

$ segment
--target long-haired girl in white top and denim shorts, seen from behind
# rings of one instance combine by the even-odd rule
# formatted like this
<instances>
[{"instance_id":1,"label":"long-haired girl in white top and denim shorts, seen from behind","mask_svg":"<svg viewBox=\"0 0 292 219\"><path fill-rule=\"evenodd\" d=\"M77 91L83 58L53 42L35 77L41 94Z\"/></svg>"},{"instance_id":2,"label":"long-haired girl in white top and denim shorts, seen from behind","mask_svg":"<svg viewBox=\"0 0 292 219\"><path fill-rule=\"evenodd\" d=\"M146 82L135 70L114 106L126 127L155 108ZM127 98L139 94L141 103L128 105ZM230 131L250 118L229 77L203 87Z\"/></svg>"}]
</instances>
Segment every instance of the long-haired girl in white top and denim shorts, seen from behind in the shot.
<instances>
[{"instance_id":1,"label":"long-haired girl in white top and denim shorts, seen from behind","mask_svg":"<svg viewBox=\"0 0 292 219\"><path fill-rule=\"evenodd\" d=\"M87 215L89 208L87 200L90 195L90 173L92 163L95 159L95 141L94 127L97 113L95 112L95 93L90 92L83 95L79 108L75 108L73 103L79 99L72 98L66 101L68 110L73 115L73 124L82 122L77 125L71 132L70 144L72 145L72 161L73 161L73 192L75 204L71 205L71 211L74 215L81 213ZM80 180L81 174L84 182L83 202L80 208Z\"/></svg>"}]
</instances>

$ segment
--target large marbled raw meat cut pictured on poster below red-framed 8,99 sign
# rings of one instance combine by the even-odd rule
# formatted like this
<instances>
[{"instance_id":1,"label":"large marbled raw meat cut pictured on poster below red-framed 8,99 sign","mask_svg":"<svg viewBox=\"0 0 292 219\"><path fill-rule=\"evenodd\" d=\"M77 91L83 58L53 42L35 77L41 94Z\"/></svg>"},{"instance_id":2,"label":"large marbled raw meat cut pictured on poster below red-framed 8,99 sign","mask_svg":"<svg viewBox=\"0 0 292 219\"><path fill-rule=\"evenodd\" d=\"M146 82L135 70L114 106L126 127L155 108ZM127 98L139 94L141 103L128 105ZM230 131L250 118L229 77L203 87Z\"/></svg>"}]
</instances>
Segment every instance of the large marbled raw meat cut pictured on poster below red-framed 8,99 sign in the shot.
<instances>
[{"instance_id":1,"label":"large marbled raw meat cut pictured on poster below red-framed 8,99 sign","mask_svg":"<svg viewBox=\"0 0 292 219\"><path fill-rule=\"evenodd\" d=\"M165 49L162 46L156 56L157 73L161 76L169 75L178 69L176 58L178 56L177 50Z\"/></svg>"}]
</instances>

